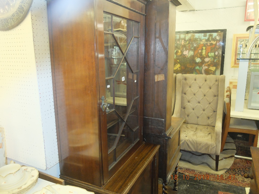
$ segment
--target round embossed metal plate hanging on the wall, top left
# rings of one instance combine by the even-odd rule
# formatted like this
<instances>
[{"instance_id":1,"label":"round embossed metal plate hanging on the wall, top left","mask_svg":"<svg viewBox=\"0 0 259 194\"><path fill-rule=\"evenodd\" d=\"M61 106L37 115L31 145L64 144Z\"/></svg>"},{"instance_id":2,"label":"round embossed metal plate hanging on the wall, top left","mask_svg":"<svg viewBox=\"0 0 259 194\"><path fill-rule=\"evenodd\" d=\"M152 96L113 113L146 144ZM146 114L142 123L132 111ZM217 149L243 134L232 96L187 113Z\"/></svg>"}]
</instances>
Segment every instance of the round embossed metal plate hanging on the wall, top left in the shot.
<instances>
[{"instance_id":1,"label":"round embossed metal plate hanging on the wall, top left","mask_svg":"<svg viewBox=\"0 0 259 194\"><path fill-rule=\"evenodd\" d=\"M0 0L0 30L16 27L27 15L33 0Z\"/></svg>"}]
</instances>

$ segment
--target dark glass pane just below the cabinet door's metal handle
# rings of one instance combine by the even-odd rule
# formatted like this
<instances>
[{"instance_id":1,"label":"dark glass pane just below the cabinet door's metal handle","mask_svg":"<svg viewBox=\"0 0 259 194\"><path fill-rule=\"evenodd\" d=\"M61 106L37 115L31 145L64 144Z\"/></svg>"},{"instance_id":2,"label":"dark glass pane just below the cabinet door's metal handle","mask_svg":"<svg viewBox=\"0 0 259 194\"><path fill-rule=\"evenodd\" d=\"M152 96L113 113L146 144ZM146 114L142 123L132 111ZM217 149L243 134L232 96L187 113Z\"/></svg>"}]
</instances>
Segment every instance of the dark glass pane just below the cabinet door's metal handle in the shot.
<instances>
[{"instance_id":1,"label":"dark glass pane just below the cabinet door's metal handle","mask_svg":"<svg viewBox=\"0 0 259 194\"><path fill-rule=\"evenodd\" d=\"M118 133L123 127L124 122L115 111L107 113L107 144L108 152L114 148L115 142L118 139Z\"/></svg>"}]
</instances>

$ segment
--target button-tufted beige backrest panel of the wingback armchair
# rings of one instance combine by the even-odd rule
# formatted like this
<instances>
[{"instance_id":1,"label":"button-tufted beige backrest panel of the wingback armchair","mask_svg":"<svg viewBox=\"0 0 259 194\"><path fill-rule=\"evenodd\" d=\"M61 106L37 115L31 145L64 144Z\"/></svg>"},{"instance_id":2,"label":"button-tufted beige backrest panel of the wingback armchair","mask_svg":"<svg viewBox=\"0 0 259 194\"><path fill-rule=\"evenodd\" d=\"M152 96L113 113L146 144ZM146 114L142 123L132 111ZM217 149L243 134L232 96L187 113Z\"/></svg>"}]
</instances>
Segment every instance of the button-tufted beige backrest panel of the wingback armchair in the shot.
<instances>
[{"instance_id":1,"label":"button-tufted beige backrest panel of the wingback armchair","mask_svg":"<svg viewBox=\"0 0 259 194\"><path fill-rule=\"evenodd\" d=\"M181 117L186 123L215 126L219 76L182 75Z\"/></svg>"}]
</instances>

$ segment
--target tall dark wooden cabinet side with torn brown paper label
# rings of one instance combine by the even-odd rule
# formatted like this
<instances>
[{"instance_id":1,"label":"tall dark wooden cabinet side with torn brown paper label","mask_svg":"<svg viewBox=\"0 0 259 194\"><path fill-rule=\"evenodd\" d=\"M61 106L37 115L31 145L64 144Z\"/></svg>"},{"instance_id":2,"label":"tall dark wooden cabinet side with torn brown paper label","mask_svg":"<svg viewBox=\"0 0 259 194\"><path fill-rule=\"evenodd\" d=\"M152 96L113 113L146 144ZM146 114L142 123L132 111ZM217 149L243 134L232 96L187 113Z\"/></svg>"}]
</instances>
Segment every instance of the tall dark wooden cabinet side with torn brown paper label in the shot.
<instances>
[{"instance_id":1,"label":"tall dark wooden cabinet side with torn brown paper label","mask_svg":"<svg viewBox=\"0 0 259 194\"><path fill-rule=\"evenodd\" d=\"M161 131L156 134L161 135L171 126L176 8L170 1L152 0L146 5L146 14L144 120L164 122L156 126L151 123L144 129L155 126ZM164 80L155 81L160 74Z\"/></svg>"}]
</instances>

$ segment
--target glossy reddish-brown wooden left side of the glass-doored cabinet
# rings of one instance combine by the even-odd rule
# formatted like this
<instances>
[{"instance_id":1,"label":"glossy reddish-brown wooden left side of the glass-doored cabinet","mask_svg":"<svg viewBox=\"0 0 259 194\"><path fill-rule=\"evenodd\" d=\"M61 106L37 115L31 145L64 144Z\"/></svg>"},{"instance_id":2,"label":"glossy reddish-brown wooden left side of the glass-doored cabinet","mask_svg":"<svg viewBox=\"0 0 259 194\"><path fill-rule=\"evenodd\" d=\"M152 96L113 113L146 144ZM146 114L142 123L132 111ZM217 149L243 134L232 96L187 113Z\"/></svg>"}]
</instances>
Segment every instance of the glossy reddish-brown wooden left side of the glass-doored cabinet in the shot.
<instances>
[{"instance_id":1,"label":"glossy reddish-brown wooden left side of the glass-doored cabinet","mask_svg":"<svg viewBox=\"0 0 259 194\"><path fill-rule=\"evenodd\" d=\"M94 1L48 3L61 175L102 185ZM91 176L89 176L91 174Z\"/></svg>"}]
</instances>

